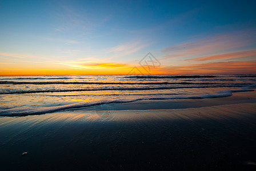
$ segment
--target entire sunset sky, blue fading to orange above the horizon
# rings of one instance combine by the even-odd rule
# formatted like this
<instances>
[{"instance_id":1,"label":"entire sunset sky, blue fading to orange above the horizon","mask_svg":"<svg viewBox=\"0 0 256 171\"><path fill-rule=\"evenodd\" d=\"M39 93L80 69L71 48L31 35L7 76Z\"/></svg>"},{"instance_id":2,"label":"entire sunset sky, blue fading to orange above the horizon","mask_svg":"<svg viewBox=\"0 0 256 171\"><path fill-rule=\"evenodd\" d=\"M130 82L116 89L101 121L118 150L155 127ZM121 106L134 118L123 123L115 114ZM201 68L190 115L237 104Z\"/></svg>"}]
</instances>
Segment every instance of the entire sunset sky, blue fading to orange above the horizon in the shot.
<instances>
[{"instance_id":1,"label":"entire sunset sky, blue fading to orange above the horizon","mask_svg":"<svg viewBox=\"0 0 256 171\"><path fill-rule=\"evenodd\" d=\"M256 74L255 6L0 0L0 75Z\"/></svg>"}]
</instances>

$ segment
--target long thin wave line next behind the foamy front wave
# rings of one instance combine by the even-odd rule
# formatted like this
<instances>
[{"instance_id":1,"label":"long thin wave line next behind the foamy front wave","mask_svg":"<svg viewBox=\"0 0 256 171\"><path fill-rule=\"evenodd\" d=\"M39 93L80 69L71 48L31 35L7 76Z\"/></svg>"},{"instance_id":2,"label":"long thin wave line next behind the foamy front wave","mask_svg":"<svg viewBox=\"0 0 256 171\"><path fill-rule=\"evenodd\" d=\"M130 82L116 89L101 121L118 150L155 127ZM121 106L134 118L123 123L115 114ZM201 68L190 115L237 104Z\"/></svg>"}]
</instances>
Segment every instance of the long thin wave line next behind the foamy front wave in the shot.
<instances>
[{"instance_id":1,"label":"long thin wave line next behind the foamy front wave","mask_svg":"<svg viewBox=\"0 0 256 171\"><path fill-rule=\"evenodd\" d=\"M187 86L187 87L141 87L141 88L85 88L85 89L46 89L46 90L31 90L31 91L13 91L13 92L0 92L0 94L22 94L22 93L44 93L44 92L78 92L78 91L136 91L136 90L151 90L151 89L178 89L178 88L216 88L216 87L243 87L243 85L219 85L219 86Z\"/></svg>"}]
</instances>

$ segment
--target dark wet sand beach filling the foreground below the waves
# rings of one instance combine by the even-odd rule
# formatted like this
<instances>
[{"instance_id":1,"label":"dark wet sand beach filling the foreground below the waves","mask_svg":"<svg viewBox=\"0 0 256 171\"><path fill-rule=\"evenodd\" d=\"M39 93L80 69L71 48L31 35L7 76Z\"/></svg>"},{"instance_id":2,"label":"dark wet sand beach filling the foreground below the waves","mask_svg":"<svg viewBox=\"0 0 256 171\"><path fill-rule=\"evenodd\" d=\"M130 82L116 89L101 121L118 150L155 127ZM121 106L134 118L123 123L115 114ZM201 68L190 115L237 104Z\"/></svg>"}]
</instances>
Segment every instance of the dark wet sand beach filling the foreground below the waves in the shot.
<instances>
[{"instance_id":1,"label":"dark wet sand beach filling the foreground below the waves","mask_svg":"<svg viewBox=\"0 0 256 171\"><path fill-rule=\"evenodd\" d=\"M256 93L0 117L0 152L0 170L256 170Z\"/></svg>"}]
</instances>

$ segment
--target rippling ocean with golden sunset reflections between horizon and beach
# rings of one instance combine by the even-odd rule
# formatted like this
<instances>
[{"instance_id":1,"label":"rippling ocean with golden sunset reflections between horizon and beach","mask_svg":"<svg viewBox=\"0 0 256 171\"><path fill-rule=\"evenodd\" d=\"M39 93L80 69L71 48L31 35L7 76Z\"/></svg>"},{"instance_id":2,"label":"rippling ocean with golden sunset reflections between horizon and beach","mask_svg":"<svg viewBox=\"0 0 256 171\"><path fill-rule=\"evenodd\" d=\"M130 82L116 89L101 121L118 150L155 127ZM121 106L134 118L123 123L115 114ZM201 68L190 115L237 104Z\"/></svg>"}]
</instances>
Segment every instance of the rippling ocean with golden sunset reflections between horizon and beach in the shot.
<instances>
[{"instance_id":1,"label":"rippling ocean with golden sunset reflections between horizon and beach","mask_svg":"<svg viewBox=\"0 0 256 171\"><path fill-rule=\"evenodd\" d=\"M0 116L109 110L101 105L226 97L253 88L255 75L1 76Z\"/></svg>"}]
</instances>

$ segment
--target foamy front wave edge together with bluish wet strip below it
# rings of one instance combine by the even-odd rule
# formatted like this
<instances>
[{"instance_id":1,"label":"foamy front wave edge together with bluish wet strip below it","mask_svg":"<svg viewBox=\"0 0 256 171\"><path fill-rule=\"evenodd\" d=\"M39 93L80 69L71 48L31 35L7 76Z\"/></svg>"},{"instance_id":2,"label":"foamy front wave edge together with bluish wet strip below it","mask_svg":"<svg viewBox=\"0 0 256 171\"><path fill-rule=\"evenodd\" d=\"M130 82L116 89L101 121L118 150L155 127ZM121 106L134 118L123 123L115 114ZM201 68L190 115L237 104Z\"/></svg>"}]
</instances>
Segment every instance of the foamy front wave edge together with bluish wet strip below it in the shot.
<instances>
[{"instance_id":1,"label":"foamy front wave edge together with bluish wet strip below it","mask_svg":"<svg viewBox=\"0 0 256 171\"><path fill-rule=\"evenodd\" d=\"M226 91L225 91L226 93ZM213 97L203 97L201 96L208 96L208 95L198 95L198 96L191 96L195 98L177 98L177 99L139 99L139 100L128 100L128 101L103 101L103 102L95 102L94 104L87 104L84 102L78 104L67 104L62 106L55 106L55 107L48 107L42 109L34 109L34 110L27 110L26 112L20 112L17 110L11 111L10 113L2 114L0 113L0 117L2 116L30 116L30 115L46 115L49 113L55 112L63 112L63 111L74 111L74 110L87 110L87 111L95 111L95 108L100 111L107 110L111 108L111 111L119 111L119 110L126 110L126 109L173 109L173 108L194 108L194 107L207 107L211 105L222 105L222 104L236 104L236 103L253 103L256 102L256 92L255 88L250 88L248 91L241 91L240 89L234 90L234 92L230 91L230 95L222 96L222 93L216 93L218 96ZM221 95L221 96L219 96ZM199 98L198 98L199 97ZM216 100L218 99L218 100ZM115 102L117 101L117 102ZM220 103L221 101L221 103ZM5 112L5 111L4 111Z\"/></svg>"}]
</instances>

